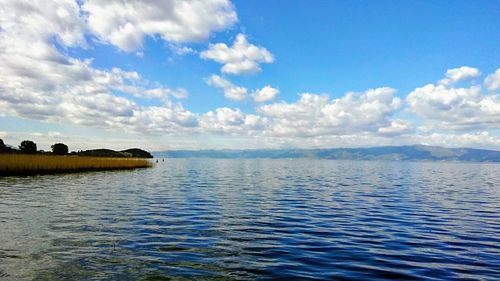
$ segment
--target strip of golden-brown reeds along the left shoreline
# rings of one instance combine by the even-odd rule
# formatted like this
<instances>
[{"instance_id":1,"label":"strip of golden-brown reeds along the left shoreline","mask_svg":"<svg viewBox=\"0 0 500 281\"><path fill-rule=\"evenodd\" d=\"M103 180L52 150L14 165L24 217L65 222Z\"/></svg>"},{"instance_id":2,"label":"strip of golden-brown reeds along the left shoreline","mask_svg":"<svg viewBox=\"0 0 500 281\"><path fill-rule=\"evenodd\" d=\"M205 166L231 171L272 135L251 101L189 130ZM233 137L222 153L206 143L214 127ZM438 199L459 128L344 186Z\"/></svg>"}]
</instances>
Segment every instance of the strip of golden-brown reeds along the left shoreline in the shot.
<instances>
[{"instance_id":1,"label":"strip of golden-brown reeds along the left shoreline","mask_svg":"<svg viewBox=\"0 0 500 281\"><path fill-rule=\"evenodd\" d=\"M37 175L151 167L146 159L0 154L0 176Z\"/></svg>"}]
</instances>

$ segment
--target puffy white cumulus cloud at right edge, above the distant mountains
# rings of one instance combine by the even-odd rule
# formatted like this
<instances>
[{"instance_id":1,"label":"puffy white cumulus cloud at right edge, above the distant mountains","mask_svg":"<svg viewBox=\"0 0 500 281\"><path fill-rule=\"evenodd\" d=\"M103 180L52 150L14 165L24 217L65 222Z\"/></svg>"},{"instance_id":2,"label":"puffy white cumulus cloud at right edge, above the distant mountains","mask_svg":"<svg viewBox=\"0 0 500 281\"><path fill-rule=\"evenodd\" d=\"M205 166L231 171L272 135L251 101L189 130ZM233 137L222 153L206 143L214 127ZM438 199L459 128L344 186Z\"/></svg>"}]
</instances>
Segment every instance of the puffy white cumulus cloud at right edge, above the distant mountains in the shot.
<instances>
[{"instance_id":1,"label":"puffy white cumulus cloud at right edge, above the distant mountains","mask_svg":"<svg viewBox=\"0 0 500 281\"><path fill-rule=\"evenodd\" d=\"M455 88L427 84L412 91L406 101L409 111L423 118L431 129L500 128L500 95L485 95L478 85Z\"/></svg>"}]
</instances>

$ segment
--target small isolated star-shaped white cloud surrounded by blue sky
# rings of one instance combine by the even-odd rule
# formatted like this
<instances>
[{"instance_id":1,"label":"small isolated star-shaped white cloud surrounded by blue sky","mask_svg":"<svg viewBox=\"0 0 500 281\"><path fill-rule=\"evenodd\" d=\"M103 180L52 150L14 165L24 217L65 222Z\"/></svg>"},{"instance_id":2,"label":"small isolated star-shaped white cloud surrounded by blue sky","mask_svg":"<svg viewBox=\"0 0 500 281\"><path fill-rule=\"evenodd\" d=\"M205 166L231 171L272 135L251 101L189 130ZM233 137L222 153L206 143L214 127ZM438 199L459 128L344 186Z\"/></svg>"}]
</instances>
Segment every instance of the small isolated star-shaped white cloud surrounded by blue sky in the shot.
<instances>
[{"instance_id":1,"label":"small isolated star-shaped white cloud surrounded by blue sky","mask_svg":"<svg viewBox=\"0 0 500 281\"><path fill-rule=\"evenodd\" d=\"M200 56L223 64L221 71L229 74L260 72L260 63L272 63L274 56L267 49L250 44L244 34L238 34L233 46L211 44Z\"/></svg>"}]
</instances>

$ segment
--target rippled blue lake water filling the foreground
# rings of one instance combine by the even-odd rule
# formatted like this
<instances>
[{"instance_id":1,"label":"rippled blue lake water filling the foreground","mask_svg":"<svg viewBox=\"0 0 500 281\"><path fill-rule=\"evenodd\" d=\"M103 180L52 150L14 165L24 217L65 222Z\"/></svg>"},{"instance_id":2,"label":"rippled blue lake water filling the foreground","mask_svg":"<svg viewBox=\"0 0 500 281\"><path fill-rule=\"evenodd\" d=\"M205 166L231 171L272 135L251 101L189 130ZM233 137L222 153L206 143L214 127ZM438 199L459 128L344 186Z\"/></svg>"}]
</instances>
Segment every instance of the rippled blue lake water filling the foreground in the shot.
<instances>
[{"instance_id":1,"label":"rippled blue lake water filling the foreground","mask_svg":"<svg viewBox=\"0 0 500 281\"><path fill-rule=\"evenodd\" d=\"M500 165L170 159L0 178L0 279L500 279Z\"/></svg>"}]
</instances>

